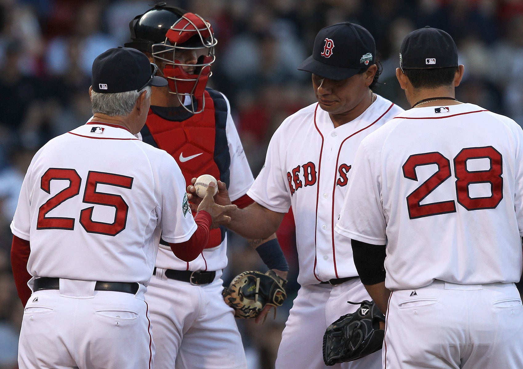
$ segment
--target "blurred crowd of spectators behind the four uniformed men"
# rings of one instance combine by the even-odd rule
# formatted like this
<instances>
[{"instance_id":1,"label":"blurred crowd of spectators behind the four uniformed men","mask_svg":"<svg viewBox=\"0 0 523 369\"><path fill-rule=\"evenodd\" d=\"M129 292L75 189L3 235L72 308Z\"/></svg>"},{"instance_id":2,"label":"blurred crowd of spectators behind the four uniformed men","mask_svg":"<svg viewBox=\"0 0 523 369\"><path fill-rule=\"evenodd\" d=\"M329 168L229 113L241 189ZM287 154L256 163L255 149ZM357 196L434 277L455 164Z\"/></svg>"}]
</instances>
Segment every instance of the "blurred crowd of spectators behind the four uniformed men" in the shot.
<instances>
[{"instance_id":1,"label":"blurred crowd of spectators behind the four uniformed men","mask_svg":"<svg viewBox=\"0 0 523 369\"><path fill-rule=\"evenodd\" d=\"M153 0L154 1L154 0ZM9 250L12 220L32 155L52 137L92 115L88 88L94 58L123 45L129 21L154 5L142 0L0 0L0 369L17 368L22 305ZM256 175L284 118L314 102L310 75L297 65L321 28L339 21L374 36L383 72L376 92L409 108L395 79L404 36L441 28L456 40L465 76L461 101L523 124L523 2L520 0L179 0L167 3L210 20L218 38L209 86L231 101L233 118ZM289 298L276 320L239 321L249 369L272 368L281 330L298 289L292 217L279 230L291 270ZM246 241L230 235L229 282L265 271Z\"/></svg>"}]
</instances>

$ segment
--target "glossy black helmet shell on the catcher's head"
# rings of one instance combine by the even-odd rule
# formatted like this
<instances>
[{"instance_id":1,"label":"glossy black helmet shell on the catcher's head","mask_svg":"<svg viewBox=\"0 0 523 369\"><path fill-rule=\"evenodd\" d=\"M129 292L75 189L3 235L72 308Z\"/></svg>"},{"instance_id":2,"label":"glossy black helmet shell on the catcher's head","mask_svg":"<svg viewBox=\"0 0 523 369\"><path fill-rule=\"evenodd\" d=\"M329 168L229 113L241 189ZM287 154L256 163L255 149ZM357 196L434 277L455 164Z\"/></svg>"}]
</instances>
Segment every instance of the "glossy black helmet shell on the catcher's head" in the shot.
<instances>
[{"instance_id":1,"label":"glossy black helmet shell on the catcher's head","mask_svg":"<svg viewBox=\"0 0 523 369\"><path fill-rule=\"evenodd\" d=\"M152 53L152 45L164 42L169 28L185 13L185 10L166 3L156 3L129 22L131 42L125 43L124 47Z\"/></svg>"}]
</instances>

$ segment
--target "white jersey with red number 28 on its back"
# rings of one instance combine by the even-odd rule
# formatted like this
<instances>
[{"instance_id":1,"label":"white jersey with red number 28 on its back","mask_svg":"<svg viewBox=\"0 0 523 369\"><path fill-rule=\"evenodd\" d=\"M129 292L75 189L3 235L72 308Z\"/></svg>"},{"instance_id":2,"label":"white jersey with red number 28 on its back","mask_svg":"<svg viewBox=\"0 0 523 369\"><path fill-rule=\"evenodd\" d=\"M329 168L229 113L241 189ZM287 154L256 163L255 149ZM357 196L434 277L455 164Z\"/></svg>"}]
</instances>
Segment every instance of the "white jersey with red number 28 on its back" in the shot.
<instances>
[{"instance_id":1,"label":"white jersey with red number 28 on its back","mask_svg":"<svg viewBox=\"0 0 523 369\"><path fill-rule=\"evenodd\" d=\"M469 103L415 108L362 141L337 232L385 245L385 285L517 282L523 131ZM349 248L349 245L345 245Z\"/></svg>"}]
</instances>

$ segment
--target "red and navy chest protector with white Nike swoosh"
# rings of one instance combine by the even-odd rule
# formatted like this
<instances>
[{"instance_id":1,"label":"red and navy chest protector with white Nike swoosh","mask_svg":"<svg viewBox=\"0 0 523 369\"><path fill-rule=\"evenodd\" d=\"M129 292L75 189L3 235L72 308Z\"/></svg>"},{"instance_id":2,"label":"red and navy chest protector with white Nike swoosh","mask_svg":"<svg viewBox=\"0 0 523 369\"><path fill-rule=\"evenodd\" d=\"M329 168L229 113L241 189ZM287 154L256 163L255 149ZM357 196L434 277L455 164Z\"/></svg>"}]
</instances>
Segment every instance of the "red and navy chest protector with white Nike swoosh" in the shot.
<instances>
[{"instance_id":1,"label":"red and navy chest protector with white Nike swoosh","mask_svg":"<svg viewBox=\"0 0 523 369\"><path fill-rule=\"evenodd\" d=\"M229 188L231 156L225 133L227 103L220 93L210 88L204 91L203 98L205 109L198 114L187 113L181 107L151 108L141 131L142 139L175 158L186 187L191 178L210 174ZM220 245L224 237L225 228L211 229L206 248Z\"/></svg>"}]
</instances>

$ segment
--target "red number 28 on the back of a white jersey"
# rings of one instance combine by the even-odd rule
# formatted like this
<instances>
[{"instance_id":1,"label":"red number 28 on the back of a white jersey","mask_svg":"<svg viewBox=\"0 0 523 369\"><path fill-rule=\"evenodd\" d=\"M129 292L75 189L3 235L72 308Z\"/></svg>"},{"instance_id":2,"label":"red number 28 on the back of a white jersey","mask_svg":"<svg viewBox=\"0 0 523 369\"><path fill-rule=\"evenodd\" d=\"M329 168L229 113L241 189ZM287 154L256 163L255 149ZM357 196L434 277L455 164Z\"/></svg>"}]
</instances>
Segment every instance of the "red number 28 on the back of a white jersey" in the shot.
<instances>
[{"instance_id":1,"label":"red number 28 on the back of a white jersey","mask_svg":"<svg viewBox=\"0 0 523 369\"><path fill-rule=\"evenodd\" d=\"M467 169L467 160L488 159L490 168L487 170ZM441 183L450 178L450 161L440 153L424 153L411 155L403 164L403 176L417 181L416 167L420 165L437 164L438 170L407 196L408 215L411 219L424 216L456 212L454 200L433 202L420 205L429 193ZM458 203L467 210L494 209L503 199L503 158L492 146L468 147L460 151L454 158L454 174L456 176L456 194ZM490 183L491 195L481 198L471 198L469 184Z\"/></svg>"}]
</instances>

